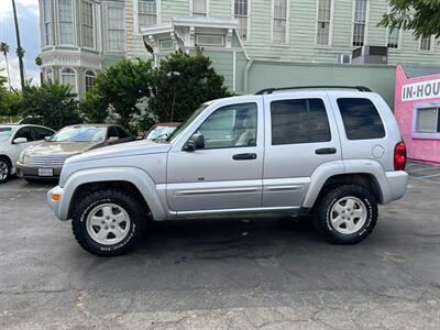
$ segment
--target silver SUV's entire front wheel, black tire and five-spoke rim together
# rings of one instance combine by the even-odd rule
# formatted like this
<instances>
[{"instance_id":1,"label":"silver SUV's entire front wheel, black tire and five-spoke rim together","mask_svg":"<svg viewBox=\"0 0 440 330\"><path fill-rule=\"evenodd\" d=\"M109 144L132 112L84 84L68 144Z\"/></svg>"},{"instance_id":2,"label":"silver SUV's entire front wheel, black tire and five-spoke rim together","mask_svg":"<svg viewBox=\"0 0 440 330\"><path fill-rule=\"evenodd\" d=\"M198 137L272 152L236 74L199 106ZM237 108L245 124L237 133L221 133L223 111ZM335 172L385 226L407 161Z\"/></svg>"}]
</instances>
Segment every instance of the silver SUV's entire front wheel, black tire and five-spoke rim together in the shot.
<instances>
[{"instance_id":1,"label":"silver SUV's entire front wheel, black tire and five-spoke rim together","mask_svg":"<svg viewBox=\"0 0 440 330\"><path fill-rule=\"evenodd\" d=\"M100 256L131 250L145 229L146 213L131 195L106 189L82 197L74 210L72 228L78 243Z\"/></svg>"}]
</instances>

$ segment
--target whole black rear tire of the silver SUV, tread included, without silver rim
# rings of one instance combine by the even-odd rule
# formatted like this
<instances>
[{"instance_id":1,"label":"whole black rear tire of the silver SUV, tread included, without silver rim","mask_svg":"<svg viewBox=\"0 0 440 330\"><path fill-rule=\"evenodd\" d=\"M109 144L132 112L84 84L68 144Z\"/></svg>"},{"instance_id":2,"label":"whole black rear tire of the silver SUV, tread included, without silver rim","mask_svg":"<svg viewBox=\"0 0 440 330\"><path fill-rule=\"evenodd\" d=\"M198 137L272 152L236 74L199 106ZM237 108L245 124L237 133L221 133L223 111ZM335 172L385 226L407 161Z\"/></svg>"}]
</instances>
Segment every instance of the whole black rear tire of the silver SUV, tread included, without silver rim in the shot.
<instances>
[{"instance_id":1,"label":"whole black rear tire of the silver SUV, tread included, without silver rim","mask_svg":"<svg viewBox=\"0 0 440 330\"><path fill-rule=\"evenodd\" d=\"M365 206L365 223L354 233L341 233L331 223L331 210L341 198L353 196ZM377 201L369 189L359 185L342 185L327 190L314 209L314 224L318 233L333 244L355 244L371 234L377 222Z\"/></svg>"}]
</instances>

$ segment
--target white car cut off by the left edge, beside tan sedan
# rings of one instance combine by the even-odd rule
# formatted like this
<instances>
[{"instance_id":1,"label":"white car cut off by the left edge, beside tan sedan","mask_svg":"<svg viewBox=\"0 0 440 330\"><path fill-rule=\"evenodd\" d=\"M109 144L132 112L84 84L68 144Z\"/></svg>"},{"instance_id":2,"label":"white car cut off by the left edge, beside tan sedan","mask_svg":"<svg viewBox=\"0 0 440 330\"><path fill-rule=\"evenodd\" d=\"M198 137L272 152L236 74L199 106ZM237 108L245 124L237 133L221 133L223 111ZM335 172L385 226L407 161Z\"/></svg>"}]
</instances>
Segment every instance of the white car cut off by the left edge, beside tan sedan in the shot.
<instances>
[{"instance_id":1,"label":"white car cut off by the left edge, beside tan sedan","mask_svg":"<svg viewBox=\"0 0 440 330\"><path fill-rule=\"evenodd\" d=\"M0 124L0 184L15 174L15 163L24 148L41 143L54 133L40 125Z\"/></svg>"}]
</instances>

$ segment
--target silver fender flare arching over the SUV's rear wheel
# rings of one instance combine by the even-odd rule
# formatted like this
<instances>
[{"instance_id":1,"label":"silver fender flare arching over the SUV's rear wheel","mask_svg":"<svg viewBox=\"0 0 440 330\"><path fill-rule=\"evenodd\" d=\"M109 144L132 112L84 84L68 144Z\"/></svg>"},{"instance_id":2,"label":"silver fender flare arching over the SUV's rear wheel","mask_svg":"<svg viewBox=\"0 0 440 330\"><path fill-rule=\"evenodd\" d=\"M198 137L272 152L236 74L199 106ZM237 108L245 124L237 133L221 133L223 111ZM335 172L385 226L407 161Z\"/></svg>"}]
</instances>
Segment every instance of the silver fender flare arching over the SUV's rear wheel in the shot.
<instances>
[{"instance_id":1,"label":"silver fender flare arching over the SUV's rear wheel","mask_svg":"<svg viewBox=\"0 0 440 330\"><path fill-rule=\"evenodd\" d=\"M392 199L386 173L378 162L372 160L334 161L324 163L315 169L310 177L310 187L302 201L302 207L306 209L314 207L326 182L332 176L343 174L372 175L380 188L380 202L386 204Z\"/></svg>"}]
</instances>

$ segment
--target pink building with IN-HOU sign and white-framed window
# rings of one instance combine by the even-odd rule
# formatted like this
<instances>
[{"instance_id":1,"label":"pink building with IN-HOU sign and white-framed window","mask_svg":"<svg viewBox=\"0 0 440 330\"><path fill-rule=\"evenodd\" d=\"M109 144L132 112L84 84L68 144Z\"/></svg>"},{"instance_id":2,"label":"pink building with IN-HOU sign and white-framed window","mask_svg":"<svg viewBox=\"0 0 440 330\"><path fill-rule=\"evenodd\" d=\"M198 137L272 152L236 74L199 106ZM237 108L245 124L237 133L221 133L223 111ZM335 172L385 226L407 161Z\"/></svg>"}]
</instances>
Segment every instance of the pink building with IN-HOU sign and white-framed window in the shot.
<instances>
[{"instance_id":1,"label":"pink building with IN-HOU sign and white-framed window","mask_svg":"<svg viewBox=\"0 0 440 330\"><path fill-rule=\"evenodd\" d=\"M398 65L394 114L408 158L440 165L440 67Z\"/></svg>"}]
</instances>

